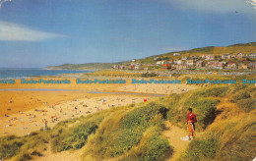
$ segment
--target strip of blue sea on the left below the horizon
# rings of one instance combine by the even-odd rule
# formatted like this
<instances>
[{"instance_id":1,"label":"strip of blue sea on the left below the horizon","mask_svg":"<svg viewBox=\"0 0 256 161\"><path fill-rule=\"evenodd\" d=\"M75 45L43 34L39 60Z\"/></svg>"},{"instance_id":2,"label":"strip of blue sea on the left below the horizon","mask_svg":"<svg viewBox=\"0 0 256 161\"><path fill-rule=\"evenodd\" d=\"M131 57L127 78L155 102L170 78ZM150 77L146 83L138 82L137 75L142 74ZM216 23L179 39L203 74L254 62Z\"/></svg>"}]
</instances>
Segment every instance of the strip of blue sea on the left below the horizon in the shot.
<instances>
[{"instance_id":1,"label":"strip of blue sea on the left below the horizon","mask_svg":"<svg viewBox=\"0 0 256 161\"><path fill-rule=\"evenodd\" d=\"M37 76L60 76L62 74L92 73L93 71L44 70L38 68L0 68L0 80L28 79Z\"/></svg>"}]
</instances>

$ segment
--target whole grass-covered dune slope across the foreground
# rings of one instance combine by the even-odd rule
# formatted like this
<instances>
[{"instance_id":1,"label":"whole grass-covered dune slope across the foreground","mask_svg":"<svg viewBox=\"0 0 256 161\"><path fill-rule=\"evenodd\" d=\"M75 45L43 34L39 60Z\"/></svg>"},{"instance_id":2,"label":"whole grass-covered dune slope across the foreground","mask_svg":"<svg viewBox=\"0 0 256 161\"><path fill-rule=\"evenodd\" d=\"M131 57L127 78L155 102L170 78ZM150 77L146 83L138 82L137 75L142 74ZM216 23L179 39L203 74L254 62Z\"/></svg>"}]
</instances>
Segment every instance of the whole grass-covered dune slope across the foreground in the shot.
<instances>
[{"instance_id":1,"label":"whole grass-covered dune slope across the foreground","mask_svg":"<svg viewBox=\"0 0 256 161\"><path fill-rule=\"evenodd\" d=\"M83 147L84 160L163 160L173 152L161 136L164 121L185 129L187 108L193 107L198 136L180 160L248 160L256 152L255 97L252 84L213 85L116 107L61 122L47 132L1 137L0 158L30 159L43 155L50 143L53 152Z\"/></svg>"}]
</instances>

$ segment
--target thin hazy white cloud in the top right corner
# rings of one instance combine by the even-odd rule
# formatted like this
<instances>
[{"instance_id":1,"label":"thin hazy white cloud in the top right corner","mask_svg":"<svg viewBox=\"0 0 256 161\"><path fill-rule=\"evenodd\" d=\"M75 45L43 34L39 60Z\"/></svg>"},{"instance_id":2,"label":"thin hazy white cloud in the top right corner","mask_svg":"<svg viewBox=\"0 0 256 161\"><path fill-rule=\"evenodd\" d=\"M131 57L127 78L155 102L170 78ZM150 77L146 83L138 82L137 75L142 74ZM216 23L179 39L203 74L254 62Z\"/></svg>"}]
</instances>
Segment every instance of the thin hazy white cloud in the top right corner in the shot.
<instances>
[{"instance_id":1,"label":"thin hazy white cloud in the top right corner","mask_svg":"<svg viewBox=\"0 0 256 161\"><path fill-rule=\"evenodd\" d=\"M211 13L253 12L256 0L162 0L175 7ZM249 3L247 3L249 2Z\"/></svg>"}]
</instances>

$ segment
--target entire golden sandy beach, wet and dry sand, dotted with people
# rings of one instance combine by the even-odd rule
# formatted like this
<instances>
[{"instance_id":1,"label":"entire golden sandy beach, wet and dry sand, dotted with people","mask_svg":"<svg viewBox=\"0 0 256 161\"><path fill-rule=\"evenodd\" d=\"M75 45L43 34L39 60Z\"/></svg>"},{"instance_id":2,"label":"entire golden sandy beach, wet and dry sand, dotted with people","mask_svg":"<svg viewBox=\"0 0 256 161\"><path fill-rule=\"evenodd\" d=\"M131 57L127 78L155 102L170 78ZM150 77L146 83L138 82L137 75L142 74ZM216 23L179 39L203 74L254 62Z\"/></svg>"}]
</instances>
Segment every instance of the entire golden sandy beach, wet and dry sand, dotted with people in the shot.
<instances>
[{"instance_id":1,"label":"entire golden sandy beach, wet and dry sand, dotted with people","mask_svg":"<svg viewBox=\"0 0 256 161\"><path fill-rule=\"evenodd\" d=\"M49 79L61 80L44 78ZM0 136L31 134L43 128L43 119L52 128L60 121L196 88L187 84L132 84L130 80L125 84L77 84L75 79L69 80L70 84L21 84L20 80L1 84Z\"/></svg>"}]
</instances>

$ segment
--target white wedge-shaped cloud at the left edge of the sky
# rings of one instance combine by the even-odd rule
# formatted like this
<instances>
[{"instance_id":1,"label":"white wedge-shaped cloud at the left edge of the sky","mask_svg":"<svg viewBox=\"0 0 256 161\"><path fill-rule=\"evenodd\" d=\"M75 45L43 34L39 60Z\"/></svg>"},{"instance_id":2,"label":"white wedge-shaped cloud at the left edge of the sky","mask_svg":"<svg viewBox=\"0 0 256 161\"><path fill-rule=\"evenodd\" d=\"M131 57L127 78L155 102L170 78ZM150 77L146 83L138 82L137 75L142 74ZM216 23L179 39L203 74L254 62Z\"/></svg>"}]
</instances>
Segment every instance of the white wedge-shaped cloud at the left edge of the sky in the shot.
<instances>
[{"instance_id":1,"label":"white wedge-shaped cloud at the left edge of the sky","mask_svg":"<svg viewBox=\"0 0 256 161\"><path fill-rule=\"evenodd\" d=\"M0 40L2 41L41 41L58 37L64 36L0 21Z\"/></svg>"}]
</instances>

